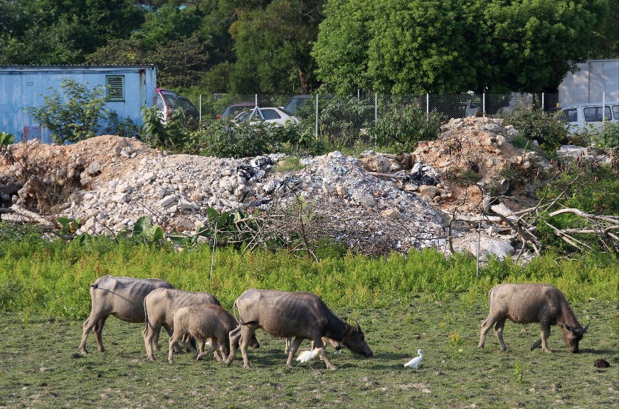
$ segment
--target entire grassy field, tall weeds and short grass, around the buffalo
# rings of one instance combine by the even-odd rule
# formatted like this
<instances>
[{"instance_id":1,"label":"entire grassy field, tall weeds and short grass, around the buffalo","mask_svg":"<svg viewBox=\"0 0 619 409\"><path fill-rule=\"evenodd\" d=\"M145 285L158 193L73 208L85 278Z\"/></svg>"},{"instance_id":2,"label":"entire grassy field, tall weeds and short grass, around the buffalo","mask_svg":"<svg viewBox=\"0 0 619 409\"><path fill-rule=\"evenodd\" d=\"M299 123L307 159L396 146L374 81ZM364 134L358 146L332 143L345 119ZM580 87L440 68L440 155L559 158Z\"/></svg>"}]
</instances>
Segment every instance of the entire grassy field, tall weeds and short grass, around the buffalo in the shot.
<instances>
[{"instance_id":1,"label":"entire grassy field, tall weeds and short grass, around the buffalo","mask_svg":"<svg viewBox=\"0 0 619 409\"><path fill-rule=\"evenodd\" d=\"M14 230L9 230L9 233ZM373 259L324 256L320 262L285 252L183 253L126 241L49 243L23 236L0 241L0 409L4 408L617 408L619 292L616 260L592 255L536 258L526 267L491 260L477 277L475 260L433 251ZM158 361L144 351L142 325L110 317L99 353L78 351L90 312L88 286L101 275L160 277L175 287L215 294L230 309L250 287L319 294L339 315L359 320L374 356L343 351L322 361L285 366L284 341L258 331L230 367L189 354ZM489 334L477 349L487 291L499 282L545 282L566 294L581 324L591 321L581 354L570 354L559 327L552 354L529 351L536 324L507 322L508 351ZM309 348L305 341L302 348ZM403 367L416 351L418 370ZM598 358L608 369L594 368Z\"/></svg>"}]
</instances>

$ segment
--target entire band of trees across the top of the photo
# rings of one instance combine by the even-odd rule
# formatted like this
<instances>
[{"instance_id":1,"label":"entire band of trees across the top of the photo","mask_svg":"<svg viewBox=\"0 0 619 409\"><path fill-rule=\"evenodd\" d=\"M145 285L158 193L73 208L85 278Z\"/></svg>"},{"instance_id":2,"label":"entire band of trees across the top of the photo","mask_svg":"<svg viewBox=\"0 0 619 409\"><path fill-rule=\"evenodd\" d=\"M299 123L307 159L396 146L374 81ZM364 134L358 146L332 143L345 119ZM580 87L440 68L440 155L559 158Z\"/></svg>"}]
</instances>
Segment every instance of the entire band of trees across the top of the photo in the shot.
<instances>
[{"instance_id":1,"label":"entire band of trees across the top of the photo","mask_svg":"<svg viewBox=\"0 0 619 409\"><path fill-rule=\"evenodd\" d=\"M154 64L202 93L550 90L616 58L616 0L0 1L0 64Z\"/></svg>"}]
</instances>

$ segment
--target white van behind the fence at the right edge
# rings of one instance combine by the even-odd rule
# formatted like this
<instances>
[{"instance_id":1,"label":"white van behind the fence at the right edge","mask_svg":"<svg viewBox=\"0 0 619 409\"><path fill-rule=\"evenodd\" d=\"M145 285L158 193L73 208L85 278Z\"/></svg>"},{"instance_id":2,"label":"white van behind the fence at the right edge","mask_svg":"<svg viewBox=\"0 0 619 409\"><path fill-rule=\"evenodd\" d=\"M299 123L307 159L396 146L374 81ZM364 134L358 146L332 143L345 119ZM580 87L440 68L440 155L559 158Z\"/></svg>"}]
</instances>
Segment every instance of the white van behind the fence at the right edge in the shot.
<instances>
[{"instance_id":1,"label":"white van behind the fence at the right edge","mask_svg":"<svg viewBox=\"0 0 619 409\"><path fill-rule=\"evenodd\" d=\"M604 115L602 116L602 107ZM563 119L569 124L570 133L584 130L596 132L602 129L602 119L606 122L619 122L619 102L588 102L559 108Z\"/></svg>"}]
</instances>

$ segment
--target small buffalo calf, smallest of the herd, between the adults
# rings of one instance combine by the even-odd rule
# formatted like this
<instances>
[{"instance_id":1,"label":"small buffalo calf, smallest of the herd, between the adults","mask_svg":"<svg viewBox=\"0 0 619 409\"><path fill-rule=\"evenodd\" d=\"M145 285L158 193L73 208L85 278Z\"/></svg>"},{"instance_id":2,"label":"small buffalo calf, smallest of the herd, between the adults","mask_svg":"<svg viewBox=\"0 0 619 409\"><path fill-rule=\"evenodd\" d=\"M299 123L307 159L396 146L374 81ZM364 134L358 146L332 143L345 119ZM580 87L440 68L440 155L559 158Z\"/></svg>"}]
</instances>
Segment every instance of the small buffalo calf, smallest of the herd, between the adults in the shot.
<instances>
[{"instance_id":1,"label":"small buffalo calf, smallest of the herd, between the adults","mask_svg":"<svg viewBox=\"0 0 619 409\"><path fill-rule=\"evenodd\" d=\"M168 361L172 363L172 349L176 342L183 341L184 345L194 353L196 358L201 359L203 356L207 356L212 352L216 352L217 347L221 351L221 358L226 360L230 350L228 346L230 344L230 332L238 326L236 319L221 307L216 304L206 305L192 305L190 307L181 307L176 309L173 314L174 322L174 334L170 337L170 349L168 353ZM205 344L208 339L211 341L211 348L206 352L198 351L187 342L188 339L194 338L200 343L201 346ZM250 346L257 348L259 346L258 340L250 340ZM201 348L202 349L202 348ZM221 361L221 358L215 354L217 361Z\"/></svg>"}]
</instances>

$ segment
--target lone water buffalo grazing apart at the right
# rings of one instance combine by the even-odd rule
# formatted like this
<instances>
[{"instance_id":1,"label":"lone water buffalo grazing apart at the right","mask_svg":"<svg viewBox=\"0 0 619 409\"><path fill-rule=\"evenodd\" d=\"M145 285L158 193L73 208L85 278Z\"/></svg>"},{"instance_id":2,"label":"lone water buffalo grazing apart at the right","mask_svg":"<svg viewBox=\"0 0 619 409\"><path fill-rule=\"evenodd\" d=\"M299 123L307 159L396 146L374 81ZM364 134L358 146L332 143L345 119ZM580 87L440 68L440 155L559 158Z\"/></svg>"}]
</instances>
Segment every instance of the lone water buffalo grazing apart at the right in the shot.
<instances>
[{"instance_id":1,"label":"lone water buffalo grazing apart at the right","mask_svg":"<svg viewBox=\"0 0 619 409\"><path fill-rule=\"evenodd\" d=\"M569 307L564 294L552 285L545 284L499 284L488 292L490 313L482 323L479 348L484 347L486 334L494 325L494 331L501 344L501 351L507 346L503 341L503 326L510 319L517 324L539 322L540 339L531 345L531 351L541 345L541 349L550 352L546 341L550 336L550 326L559 325L563 329L563 338L570 352L578 352L578 341L583 339L589 324L584 328Z\"/></svg>"}]
</instances>

